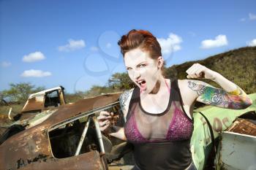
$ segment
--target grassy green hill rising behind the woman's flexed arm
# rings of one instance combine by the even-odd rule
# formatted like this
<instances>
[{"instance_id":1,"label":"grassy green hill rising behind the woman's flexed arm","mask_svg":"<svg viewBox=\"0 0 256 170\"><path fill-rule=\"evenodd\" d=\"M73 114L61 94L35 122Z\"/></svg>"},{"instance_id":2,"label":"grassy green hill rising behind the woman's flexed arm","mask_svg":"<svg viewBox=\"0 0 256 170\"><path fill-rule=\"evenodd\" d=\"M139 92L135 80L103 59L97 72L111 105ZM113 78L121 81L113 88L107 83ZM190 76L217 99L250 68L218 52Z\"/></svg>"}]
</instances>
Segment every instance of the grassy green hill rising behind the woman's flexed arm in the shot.
<instances>
[{"instance_id":1,"label":"grassy green hill rising behind the woman's flexed arm","mask_svg":"<svg viewBox=\"0 0 256 170\"><path fill-rule=\"evenodd\" d=\"M165 75L171 78L186 79L186 70L193 63L200 63L208 69L219 72L228 80L236 83L246 93L256 92L256 47L241 47L226 53L210 56L200 61L189 61L173 65L165 70ZM219 87L215 82L203 81Z\"/></svg>"}]
</instances>

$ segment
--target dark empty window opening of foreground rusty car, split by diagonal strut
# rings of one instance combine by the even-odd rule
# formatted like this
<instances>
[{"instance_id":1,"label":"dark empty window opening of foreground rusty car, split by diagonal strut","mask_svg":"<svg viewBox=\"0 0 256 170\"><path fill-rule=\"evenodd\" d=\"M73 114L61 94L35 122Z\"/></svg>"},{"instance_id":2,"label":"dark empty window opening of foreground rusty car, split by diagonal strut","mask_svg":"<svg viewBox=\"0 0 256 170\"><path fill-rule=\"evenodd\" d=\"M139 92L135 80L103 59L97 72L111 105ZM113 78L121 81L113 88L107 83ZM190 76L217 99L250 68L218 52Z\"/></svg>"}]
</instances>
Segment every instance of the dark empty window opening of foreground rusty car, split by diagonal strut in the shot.
<instances>
[{"instance_id":1,"label":"dark empty window opening of foreground rusty car, split by diagonal strut","mask_svg":"<svg viewBox=\"0 0 256 170\"><path fill-rule=\"evenodd\" d=\"M83 117L49 132L51 149L55 158L68 158L75 155L80 136L83 133L87 121L88 117ZM80 154L92 150L99 151L99 142L94 123L91 121L80 149Z\"/></svg>"}]
</instances>

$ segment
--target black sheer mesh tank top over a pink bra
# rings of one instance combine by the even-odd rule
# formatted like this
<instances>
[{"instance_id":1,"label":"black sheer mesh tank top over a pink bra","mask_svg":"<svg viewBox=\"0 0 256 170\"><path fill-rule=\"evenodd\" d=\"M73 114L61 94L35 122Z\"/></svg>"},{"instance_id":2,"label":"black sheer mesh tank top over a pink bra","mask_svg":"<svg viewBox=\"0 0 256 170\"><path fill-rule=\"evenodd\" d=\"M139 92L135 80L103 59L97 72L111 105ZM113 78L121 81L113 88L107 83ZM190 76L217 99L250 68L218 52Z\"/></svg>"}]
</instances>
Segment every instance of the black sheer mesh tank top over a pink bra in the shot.
<instances>
[{"instance_id":1,"label":"black sheer mesh tank top over a pink bra","mask_svg":"<svg viewBox=\"0 0 256 170\"><path fill-rule=\"evenodd\" d=\"M158 114L143 109L138 87L132 92L124 134L134 145L137 169L186 169L192 161L193 122L184 111L178 81L166 89L169 102L165 111Z\"/></svg>"}]
</instances>

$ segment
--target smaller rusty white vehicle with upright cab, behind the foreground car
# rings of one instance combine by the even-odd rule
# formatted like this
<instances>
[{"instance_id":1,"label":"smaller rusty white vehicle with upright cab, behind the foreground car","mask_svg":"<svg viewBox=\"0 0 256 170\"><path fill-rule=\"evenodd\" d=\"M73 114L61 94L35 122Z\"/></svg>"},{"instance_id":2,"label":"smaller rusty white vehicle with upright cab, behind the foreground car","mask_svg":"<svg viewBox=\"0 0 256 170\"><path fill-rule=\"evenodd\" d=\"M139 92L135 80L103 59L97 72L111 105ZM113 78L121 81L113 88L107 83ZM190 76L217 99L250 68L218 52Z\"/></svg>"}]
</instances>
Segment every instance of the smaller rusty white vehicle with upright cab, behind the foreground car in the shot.
<instances>
[{"instance_id":1,"label":"smaller rusty white vehicle with upright cab, behind the foreground car","mask_svg":"<svg viewBox=\"0 0 256 170\"><path fill-rule=\"evenodd\" d=\"M20 112L13 112L10 104L7 101L4 103L10 109L8 119L0 121L0 144L7 137L23 131L25 125L36 125L45 120L53 110L56 111L59 106L67 104L62 86L32 93Z\"/></svg>"}]
</instances>

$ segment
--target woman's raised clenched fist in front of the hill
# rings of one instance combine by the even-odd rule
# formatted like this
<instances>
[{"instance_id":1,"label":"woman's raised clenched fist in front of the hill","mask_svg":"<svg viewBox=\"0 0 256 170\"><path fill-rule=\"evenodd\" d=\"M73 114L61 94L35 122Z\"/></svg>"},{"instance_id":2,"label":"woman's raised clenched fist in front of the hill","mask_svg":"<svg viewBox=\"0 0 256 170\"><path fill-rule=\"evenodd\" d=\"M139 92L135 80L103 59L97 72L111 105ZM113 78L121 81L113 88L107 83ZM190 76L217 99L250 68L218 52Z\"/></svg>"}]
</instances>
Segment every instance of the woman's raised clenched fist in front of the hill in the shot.
<instances>
[{"instance_id":1,"label":"woman's raised clenched fist in front of the hill","mask_svg":"<svg viewBox=\"0 0 256 170\"><path fill-rule=\"evenodd\" d=\"M188 79L205 78L208 80L215 80L217 75L217 72L208 69L200 63L194 63L186 72L188 74Z\"/></svg>"}]
</instances>

